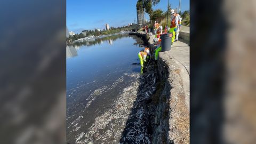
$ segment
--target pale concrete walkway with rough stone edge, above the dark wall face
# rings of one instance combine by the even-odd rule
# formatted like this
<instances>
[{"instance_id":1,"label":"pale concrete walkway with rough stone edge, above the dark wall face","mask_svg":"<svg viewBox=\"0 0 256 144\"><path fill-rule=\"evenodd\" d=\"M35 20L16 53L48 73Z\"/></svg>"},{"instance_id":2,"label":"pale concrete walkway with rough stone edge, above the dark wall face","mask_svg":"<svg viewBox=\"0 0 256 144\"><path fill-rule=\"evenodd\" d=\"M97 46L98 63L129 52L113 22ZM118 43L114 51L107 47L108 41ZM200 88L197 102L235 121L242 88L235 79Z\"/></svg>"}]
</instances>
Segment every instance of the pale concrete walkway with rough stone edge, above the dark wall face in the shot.
<instances>
[{"instance_id":1,"label":"pale concrete walkway with rough stone edge, above the dark wall face","mask_svg":"<svg viewBox=\"0 0 256 144\"><path fill-rule=\"evenodd\" d=\"M180 39L181 40L181 39ZM189 143L189 46L174 42L170 51L159 52L158 70L167 69L170 90L169 139Z\"/></svg>"}]
</instances>

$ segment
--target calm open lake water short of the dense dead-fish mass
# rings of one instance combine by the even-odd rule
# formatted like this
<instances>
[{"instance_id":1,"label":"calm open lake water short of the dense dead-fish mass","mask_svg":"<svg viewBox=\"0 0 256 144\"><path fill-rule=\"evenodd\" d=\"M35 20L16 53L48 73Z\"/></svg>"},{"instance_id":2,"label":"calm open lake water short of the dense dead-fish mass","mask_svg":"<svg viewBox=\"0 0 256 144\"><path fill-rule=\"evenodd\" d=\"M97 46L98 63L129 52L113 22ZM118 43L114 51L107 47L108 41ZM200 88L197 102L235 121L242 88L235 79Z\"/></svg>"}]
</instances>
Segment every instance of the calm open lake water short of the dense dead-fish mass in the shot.
<instances>
[{"instance_id":1,"label":"calm open lake water short of the dense dead-fish mass","mask_svg":"<svg viewBox=\"0 0 256 144\"><path fill-rule=\"evenodd\" d=\"M142 47L119 34L67 45L67 141L76 143L136 78ZM81 138L80 138L81 137Z\"/></svg>"}]
</instances>

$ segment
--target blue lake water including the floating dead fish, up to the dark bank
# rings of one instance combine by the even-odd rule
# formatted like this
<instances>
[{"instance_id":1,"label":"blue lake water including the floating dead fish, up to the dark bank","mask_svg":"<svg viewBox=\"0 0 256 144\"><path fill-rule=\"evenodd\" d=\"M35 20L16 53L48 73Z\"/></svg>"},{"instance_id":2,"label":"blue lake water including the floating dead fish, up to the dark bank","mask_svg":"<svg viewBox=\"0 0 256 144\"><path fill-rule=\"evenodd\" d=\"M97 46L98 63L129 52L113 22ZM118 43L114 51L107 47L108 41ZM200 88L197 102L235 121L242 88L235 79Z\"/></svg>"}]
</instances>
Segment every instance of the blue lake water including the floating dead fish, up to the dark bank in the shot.
<instances>
[{"instance_id":1,"label":"blue lake water including the floating dead fish, up to the dark bank","mask_svg":"<svg viewBox=\"0 0 256 144\"><path fill-rule=\"evenodd\" d=\"M142 50L118 34L67 45L67 142L118 143L136 98Z\"/></svg>"}]
</instances>

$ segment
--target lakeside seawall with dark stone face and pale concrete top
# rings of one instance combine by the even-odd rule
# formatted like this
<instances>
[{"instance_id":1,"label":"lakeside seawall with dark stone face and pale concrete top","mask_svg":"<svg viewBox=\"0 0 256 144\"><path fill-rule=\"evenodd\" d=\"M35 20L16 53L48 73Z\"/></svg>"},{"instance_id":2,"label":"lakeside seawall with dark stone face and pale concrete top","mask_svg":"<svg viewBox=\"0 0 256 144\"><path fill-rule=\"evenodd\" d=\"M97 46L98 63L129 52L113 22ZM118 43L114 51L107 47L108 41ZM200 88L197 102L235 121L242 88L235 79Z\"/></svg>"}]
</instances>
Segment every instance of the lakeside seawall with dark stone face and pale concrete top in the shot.
<instances>
[{"instance_id":1,"label":"lakeside seawall with dark stone face and pale concrete top","mask_svg":"<svg viewBox=\"0 0 256 144\"><path fill-rule=\"evenodd\" d=\"M129 35L141 37L154 50L154 35L140 32ZM157 75L152 143L189 143L189 47L175 42L171 51L159 52Z\"/></svg>"}]
</instances>

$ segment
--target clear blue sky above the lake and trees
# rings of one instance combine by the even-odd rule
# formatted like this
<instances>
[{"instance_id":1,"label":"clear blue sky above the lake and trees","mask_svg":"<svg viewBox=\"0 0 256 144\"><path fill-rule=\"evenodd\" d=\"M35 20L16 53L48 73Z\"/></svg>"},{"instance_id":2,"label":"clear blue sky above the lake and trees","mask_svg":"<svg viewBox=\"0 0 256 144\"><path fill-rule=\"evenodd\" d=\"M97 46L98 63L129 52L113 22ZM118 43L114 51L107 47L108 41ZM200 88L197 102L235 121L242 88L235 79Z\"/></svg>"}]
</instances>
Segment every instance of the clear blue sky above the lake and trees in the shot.
<instances>
[{"instance_id":1,"label":"clear blue sky above the lake and trees","mask_svg":"<svg viewBox=\"0 0 256 144\"><path fill-rule=\"evenodd\" d=\"M67 28L76 34L85 29L105 28L106 23L110 27L122 27L137 21L137 0L115 1L83 1L67 0ZM153 9L167 10L168 0L160 0ZM179 8L179 0L169 0L172 9ZM181 12L189 10L189 0L181 0ZM147 20L149 16L146 15Z\"/></svg>"}]
</instances>

